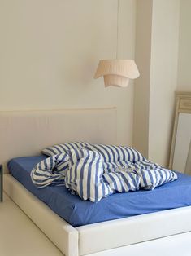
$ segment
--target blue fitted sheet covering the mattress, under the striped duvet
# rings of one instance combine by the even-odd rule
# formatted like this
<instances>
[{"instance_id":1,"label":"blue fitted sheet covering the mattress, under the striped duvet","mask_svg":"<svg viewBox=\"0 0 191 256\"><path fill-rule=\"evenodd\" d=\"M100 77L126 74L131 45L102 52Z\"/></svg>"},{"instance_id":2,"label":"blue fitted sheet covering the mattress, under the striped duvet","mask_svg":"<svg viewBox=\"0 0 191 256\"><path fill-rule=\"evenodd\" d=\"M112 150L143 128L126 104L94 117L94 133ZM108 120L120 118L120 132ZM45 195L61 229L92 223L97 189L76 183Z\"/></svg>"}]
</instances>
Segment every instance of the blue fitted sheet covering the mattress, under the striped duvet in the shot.
<instances>
[{"instance_id":1,"label":"blue fitted sheet covering the mattress, under the striped duvet","mask_svg":"<svg viewBox=\"0 0 191 256\"><path fill-rule=\"evenodd\" d=\"M9 161L7 166L15 179L73 227L191 205L191 176L180 173L177 173L176 181L154 191L116 193L98 203L82 201L64 186L36 188L31 181L30 171L45 158L18 157Z\"/></svg>"}]
</instances>

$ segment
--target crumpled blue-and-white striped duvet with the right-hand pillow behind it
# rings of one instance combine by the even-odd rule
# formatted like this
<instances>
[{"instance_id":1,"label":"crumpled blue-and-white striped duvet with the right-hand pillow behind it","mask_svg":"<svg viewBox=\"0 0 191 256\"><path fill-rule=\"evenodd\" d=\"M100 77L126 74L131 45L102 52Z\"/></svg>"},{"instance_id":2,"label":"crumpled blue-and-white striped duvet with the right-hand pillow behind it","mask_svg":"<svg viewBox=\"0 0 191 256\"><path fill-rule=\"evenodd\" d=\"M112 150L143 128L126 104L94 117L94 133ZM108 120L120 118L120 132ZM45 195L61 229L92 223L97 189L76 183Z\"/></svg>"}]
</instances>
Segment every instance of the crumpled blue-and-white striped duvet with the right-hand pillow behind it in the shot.
<instances>
[{"instance_id":1,"label":"crumpled blue-and-white striped duvet with the right-hand pillow behind it","mask_svg":"<svg viewBox=\"0 0 191 256\"><path fill-rule=\"evenodd\" d=\"M41 161L31 178L38 188L65 185L83 200L98 202L115 192L152 190L177 179L177 175L147 161L132 148L96 145L71 148Z\"/></svg>"}]
</instances>

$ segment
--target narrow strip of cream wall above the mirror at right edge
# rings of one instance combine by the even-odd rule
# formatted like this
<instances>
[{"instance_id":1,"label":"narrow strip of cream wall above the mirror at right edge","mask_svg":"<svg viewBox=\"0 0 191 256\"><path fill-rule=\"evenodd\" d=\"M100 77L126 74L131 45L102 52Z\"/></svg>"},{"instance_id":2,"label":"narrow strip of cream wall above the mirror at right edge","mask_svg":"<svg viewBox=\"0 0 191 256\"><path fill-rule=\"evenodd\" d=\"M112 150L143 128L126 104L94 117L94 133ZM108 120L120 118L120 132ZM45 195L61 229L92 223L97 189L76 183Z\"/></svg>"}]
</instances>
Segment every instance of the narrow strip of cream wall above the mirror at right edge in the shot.
<instances>
[{"instance_id":1,"label":"narrow strip of cream wall above the mirror at right edge","mask_svg":"<svg viewBox=\"0 0 191 256\"><path fill-rule=\"evenodd\" d=\"M191 1L180 0L180 36L179 36L179 91L191 91L190 60L191 60Z\"/></svg>"}]
</instances>

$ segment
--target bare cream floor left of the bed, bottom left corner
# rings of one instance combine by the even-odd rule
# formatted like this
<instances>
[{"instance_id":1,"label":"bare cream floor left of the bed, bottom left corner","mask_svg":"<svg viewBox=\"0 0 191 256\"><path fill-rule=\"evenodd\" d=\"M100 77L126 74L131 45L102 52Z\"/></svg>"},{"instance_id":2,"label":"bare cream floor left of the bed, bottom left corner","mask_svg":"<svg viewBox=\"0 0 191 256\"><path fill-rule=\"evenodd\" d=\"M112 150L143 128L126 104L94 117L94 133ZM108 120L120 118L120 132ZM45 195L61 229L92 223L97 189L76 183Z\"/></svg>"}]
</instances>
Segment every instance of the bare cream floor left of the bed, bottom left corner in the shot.
<instances>
[{"instance_id":1,"label":"bare cream floor left of the bed, bottom left corner","mask_svg":"<svg viewBox=\"0 0 191 256\"><path fill-rule=\"evenodd\" d=\"M1 256L63 256L43 232L4 194L0 202Z\"/></svg>"}]
</instances>

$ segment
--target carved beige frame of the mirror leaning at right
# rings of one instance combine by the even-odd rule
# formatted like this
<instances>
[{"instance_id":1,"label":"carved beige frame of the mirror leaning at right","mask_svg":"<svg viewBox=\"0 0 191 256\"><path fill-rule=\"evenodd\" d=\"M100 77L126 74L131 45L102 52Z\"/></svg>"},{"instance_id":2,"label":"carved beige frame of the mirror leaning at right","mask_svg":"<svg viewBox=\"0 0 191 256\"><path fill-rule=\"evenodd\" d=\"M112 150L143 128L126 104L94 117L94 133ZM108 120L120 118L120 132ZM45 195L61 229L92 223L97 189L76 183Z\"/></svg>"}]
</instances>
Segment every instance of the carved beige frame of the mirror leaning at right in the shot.
<instances>
[{"instance_id":1,"label":"carved beige frame of the mirror leaning at right","mask_svg":"<svg viewBox=\"0 0 191 256\"><path fill-rule=\"evenodd\" d=\"M176 111L175 111L175 120L172 131L172 139L171 139L171 152L170 152L170 160L168 168L172 168L172 163L174 159L175 153L175 145L176 145L176 133L178 128L179 114L180 113L189 113L191 114L191 92L176 92Z\"/></svg>"}]
</instances>

